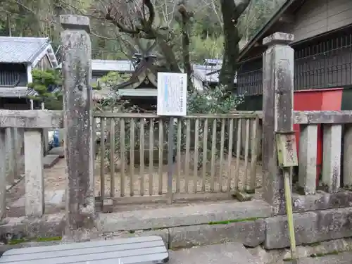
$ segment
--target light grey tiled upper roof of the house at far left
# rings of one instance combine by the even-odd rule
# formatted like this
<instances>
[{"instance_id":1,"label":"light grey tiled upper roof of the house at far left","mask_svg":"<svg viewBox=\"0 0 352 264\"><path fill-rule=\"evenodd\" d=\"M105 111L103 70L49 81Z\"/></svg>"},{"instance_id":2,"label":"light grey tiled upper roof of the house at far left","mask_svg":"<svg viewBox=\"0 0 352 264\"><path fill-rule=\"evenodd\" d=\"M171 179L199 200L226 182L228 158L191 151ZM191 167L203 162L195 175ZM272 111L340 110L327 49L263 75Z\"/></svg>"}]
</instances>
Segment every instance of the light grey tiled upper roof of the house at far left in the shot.
<instances>
[{"instance_id":1,"label":"light grey tiled upper roof of the house at far left","mask_svg":"<svg viewBox=\"0 0 352 264\"><path fill-rule=\"evenodd\" d=\"M49 44L44 37L0 37L0 63L32 63Z\"/></svg>"}]
</instances>

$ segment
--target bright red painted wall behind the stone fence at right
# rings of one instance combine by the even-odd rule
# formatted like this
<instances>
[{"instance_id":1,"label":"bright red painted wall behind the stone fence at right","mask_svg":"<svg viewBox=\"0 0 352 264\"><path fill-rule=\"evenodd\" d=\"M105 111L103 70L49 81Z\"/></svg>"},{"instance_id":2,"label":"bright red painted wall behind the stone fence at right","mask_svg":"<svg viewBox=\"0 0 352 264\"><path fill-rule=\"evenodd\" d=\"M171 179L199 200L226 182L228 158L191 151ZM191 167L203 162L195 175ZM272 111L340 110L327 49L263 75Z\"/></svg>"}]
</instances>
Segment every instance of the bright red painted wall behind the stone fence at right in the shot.
<instances>
[{"instance_id":1,"label":"bright red painted wall behind the stone fence at right","mask_svg":"<svg viewBox=\"0 0 352 264\"><path fill-rule=\"evenodd\" d=\"M340 111L342 88L314 89L294 92L294 111ZM296 131L297 150L299 146L299 125ZM322 127L318 125L317 184L322 170Z\"/></svg>"}]
</instances>

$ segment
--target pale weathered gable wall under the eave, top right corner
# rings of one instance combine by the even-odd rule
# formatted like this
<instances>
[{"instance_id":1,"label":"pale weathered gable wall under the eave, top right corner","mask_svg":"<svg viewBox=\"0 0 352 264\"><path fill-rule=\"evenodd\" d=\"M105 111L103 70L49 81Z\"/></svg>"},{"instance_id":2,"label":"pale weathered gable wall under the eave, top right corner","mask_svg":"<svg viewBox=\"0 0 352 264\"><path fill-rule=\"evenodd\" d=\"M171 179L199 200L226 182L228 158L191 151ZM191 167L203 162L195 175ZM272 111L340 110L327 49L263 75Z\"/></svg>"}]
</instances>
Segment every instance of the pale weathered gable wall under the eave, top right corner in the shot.
<instances>
[{"instance_id":1,"label":"pale weathered gable wall under the eave, top right corner","mask_svg":"<svg viewBox=\"0 0 352 264\"><path fill-rule=\"evenodd\" d=\"M351 23L351 0L308 0L297 11L290 31L300 41Z\"/></svg>"}]
</instances>

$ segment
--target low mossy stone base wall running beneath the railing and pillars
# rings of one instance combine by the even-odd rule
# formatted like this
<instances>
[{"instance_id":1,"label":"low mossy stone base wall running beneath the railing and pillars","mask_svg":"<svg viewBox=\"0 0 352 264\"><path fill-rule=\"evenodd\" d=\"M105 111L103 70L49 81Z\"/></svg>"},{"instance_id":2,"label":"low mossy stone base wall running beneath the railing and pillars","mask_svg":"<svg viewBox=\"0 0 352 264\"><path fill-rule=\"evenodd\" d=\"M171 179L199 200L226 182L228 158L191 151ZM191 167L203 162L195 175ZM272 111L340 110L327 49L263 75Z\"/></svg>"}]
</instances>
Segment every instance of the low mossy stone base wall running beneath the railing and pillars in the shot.
<instances>
[{"instance_id":1,"label":"low mossy stone base wall running beneath the railing and pillars","mask_svg":"<svg viewBox=\"0 0 352 264\"><path fill-rule=\"evenodd\" d=\"M8 218L0 234L21 234L23 239L57 237L63 233L63 215L40 220ZM294 213L297 245L352 237L352 208ZM263 201L214 203L197 206L99 214L96 232L87 239L160 235L169 249L241 242L267 250L289 246L287 218L271 216ZM2 239L4 242L4 239ZM11 240L11 239L10 239ZM22 245L15 245L22 246Z\"/></svg>"}]
</instances>

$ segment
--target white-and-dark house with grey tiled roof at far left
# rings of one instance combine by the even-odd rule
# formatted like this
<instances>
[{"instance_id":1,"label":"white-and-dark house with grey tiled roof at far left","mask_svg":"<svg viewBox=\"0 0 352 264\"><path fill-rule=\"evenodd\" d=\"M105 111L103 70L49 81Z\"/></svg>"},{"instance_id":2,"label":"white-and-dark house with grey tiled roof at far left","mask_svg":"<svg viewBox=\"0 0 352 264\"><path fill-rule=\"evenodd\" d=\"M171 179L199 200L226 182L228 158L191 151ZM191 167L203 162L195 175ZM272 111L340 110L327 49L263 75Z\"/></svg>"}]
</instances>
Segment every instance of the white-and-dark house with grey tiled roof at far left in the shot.
<instances>
[{"instance_id":1,"label":"white-and-dark house with grey tiled roof at far left","mask_svg":"<svg viewBox=\"0 0 352 264\"><path fill-rule=\"evenodd\" d=\"M30 109L33 101L27 97L35 94L27 88L32 69L57 66L48 38L0 37L0 108Z\"/></svg>"}]
</instances>

